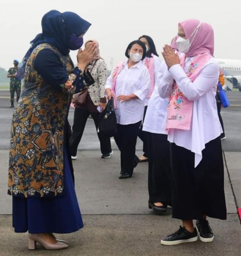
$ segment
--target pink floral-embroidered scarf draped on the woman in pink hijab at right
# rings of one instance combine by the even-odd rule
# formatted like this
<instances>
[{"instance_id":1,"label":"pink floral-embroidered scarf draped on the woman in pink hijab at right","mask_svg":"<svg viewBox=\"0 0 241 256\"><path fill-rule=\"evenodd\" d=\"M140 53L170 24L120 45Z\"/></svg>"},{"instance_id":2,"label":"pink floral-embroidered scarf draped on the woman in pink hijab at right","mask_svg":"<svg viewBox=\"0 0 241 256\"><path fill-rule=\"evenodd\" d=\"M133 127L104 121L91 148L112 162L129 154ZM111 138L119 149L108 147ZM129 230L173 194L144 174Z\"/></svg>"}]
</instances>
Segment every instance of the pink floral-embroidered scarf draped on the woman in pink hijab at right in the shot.
<instances>
[{"instance_id":1,"label":"pink floral-embroidered scarf draped on the woman in pink hijab at right","mask_svg":"<svg viewBox=\"0 0 241 256\"><path fill-rule=\"evenodd\" d=\"M186 55L183 55L180 59L181 67L184 67L185 58ZM207 52L199 54L194 58L186 73L192 82L197 78L210 58L212 58L212 56ZM170 93L169 105L167 108L167 134L169 129L190 130L192 115L193 101L188 100L184 96L181 90L179 90L176 81L174 81L173 90Z\"/></svg>"}]
</instances>

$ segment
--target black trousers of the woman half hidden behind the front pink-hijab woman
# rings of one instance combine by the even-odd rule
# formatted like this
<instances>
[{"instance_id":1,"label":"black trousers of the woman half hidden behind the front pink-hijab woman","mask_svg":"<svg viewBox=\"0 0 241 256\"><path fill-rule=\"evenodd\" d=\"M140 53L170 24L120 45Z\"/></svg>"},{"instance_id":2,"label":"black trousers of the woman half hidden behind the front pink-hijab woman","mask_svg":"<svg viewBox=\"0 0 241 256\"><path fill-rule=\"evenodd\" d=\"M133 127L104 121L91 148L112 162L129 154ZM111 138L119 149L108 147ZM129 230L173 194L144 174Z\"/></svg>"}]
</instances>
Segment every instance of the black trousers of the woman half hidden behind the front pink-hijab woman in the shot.
<instances>
[{"instance_id":1,"label":"black trousers of the woman half hidden behind the front pink-hijab woman","mask_svg":"<svg viewBox=\"0 0 241 256\"><path fill-rule=\"evenodd\" d=\"M149 201L172 205L170 143L165 134L148 132L147 135Z\"/></svg>"}]
</instances>

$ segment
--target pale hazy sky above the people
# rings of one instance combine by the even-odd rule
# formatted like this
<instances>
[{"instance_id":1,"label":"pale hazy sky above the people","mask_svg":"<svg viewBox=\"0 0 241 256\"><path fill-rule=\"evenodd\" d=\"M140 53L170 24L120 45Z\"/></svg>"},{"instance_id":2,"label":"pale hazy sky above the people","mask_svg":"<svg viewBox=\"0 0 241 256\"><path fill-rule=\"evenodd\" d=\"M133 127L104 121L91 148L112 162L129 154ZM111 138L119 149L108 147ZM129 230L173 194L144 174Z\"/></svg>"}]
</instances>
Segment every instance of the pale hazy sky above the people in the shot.
<instances>
[{"instance_id":1,"label":"pale hazy sky above the people","mask_svg":"<svg viewBox=\"0 0 241 256\"><path fill-rule=\"evenodd\" d=\"M178 22L196 18L210 23L215 33L215 57L241 59L239 0L1 0L0 67L19 61L29 42L41 32L41 18L51 9L72 11L92 23L84 40L99 41L100 53L111 69L125 60L130 41L150 35L158 53L177 33ZM76 51L71 57L76 63Z\"/></svg>"}]
</instances>

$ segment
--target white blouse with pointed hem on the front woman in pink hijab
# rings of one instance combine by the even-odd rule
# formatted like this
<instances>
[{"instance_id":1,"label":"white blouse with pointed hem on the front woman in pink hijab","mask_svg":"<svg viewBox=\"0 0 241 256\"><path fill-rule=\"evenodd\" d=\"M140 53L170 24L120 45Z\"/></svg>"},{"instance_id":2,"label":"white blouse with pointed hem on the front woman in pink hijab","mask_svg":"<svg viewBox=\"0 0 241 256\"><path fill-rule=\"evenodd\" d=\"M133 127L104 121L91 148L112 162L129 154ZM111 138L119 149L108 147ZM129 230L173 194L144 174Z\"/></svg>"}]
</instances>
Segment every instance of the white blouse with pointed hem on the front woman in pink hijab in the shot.
<instances>
[{"instance_id":1,"label":"white blouse with pointed hem on the front woman in pink hijab","mask_svg":"<svg viewBox=\"0 0 241 256\"><path fill-rule=\"evenodd\" d=\"M185 72L192 60L193 58L186 58L184 70L179 64L172 66L169 71L166 70L158 85L158 90L160 96L166 98L170 95L173 79L175 79L187 99L194 101L190 130L170 129L168 140L194 152L196 167L202 159L201 151L205 148L205 144L217 138L222 133L222 128L215 100L219 75L218 61L211 58L198 77L191 82ZM167 113L163 128L166 120Z\"/></svg>"}]
</instances>

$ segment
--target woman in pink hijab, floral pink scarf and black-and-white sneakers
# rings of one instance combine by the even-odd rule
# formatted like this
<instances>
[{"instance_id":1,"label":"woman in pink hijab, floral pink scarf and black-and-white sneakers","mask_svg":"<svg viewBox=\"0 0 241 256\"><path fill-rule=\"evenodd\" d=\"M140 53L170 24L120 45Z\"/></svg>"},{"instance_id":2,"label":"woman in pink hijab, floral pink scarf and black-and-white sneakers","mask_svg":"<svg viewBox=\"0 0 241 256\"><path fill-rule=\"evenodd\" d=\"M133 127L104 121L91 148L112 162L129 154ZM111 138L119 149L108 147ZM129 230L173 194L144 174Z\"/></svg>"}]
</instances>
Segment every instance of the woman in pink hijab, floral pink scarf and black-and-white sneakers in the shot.
<instances>
[{"instance_id":1,"label":"woman in pink hijab, floral pink scarf and black-and-white sneakers","mask_svg":"<svg viewBox=\"0 0 241 256\"><path fill-rule=\"evenodd\" d=\"M164 245L197 241L198 235L211 242L214 236L207 216L227 218L213 28L185 20L179 23L176 46L184 53L181 58L172 47L163 48L167 70L158 89L162 98L169 96L164 128L171 143L173 218L182 220L182 226L162 239Z\"/></svg>"}]
</instances>

